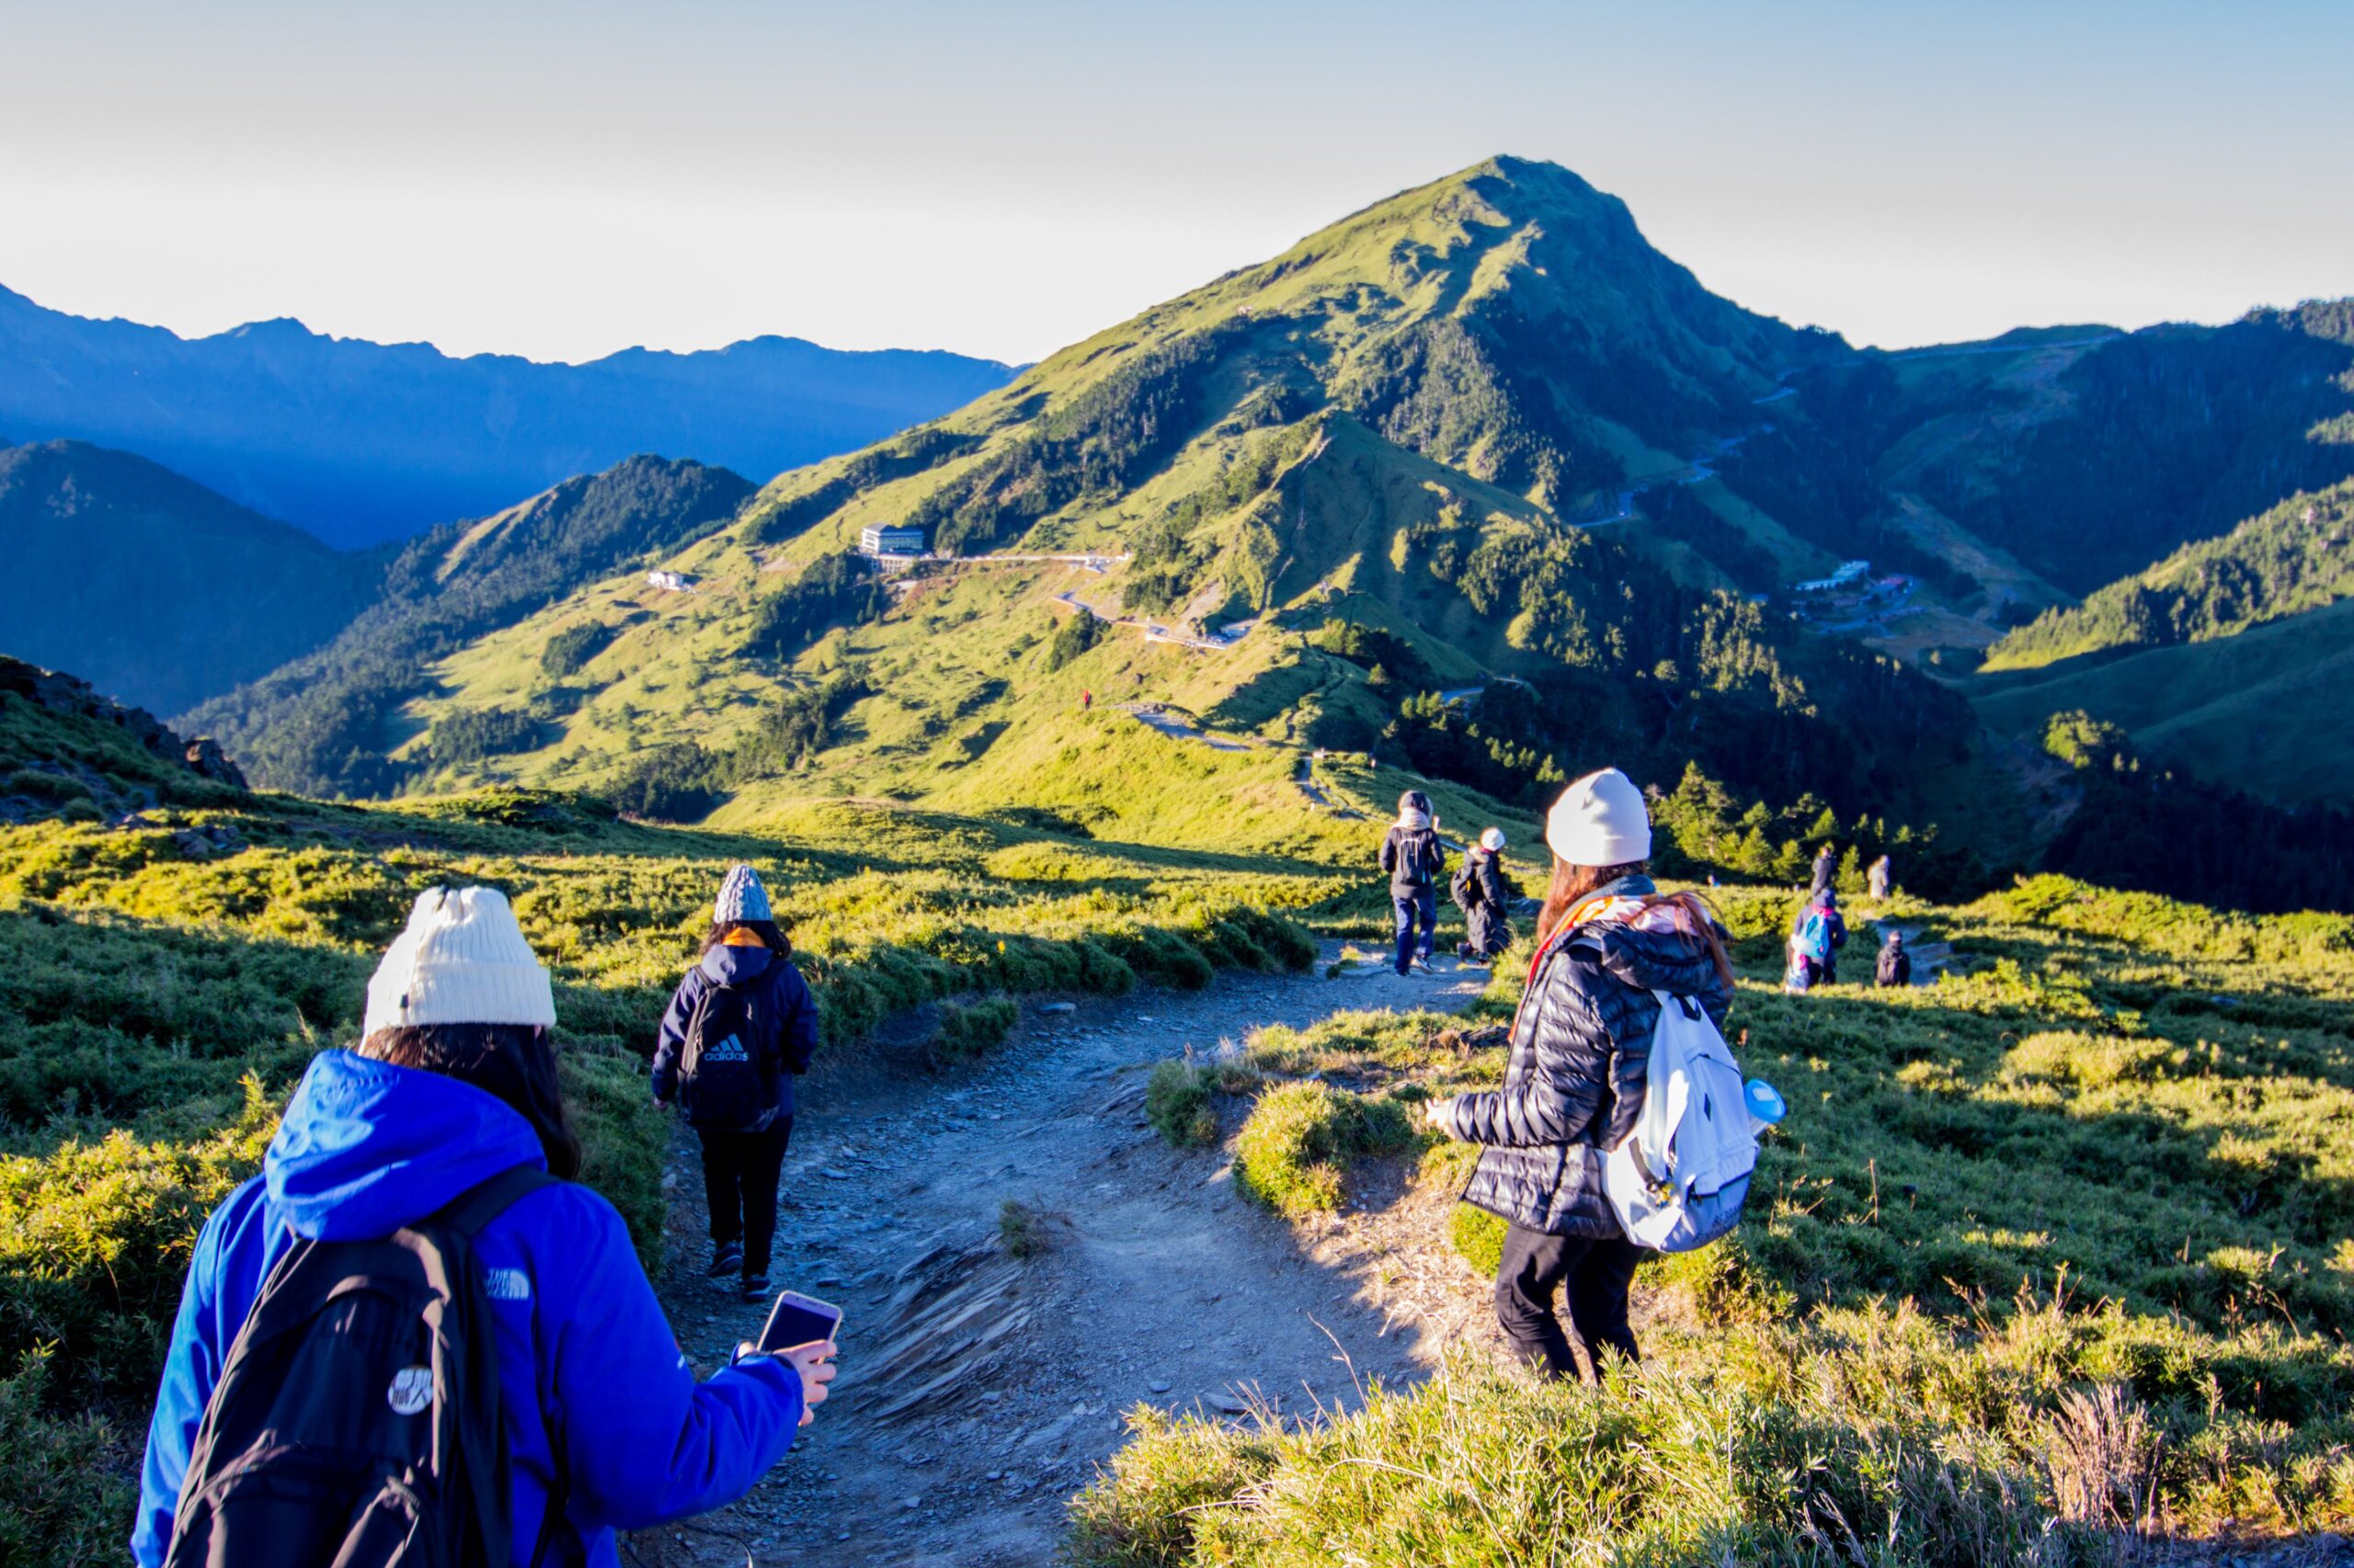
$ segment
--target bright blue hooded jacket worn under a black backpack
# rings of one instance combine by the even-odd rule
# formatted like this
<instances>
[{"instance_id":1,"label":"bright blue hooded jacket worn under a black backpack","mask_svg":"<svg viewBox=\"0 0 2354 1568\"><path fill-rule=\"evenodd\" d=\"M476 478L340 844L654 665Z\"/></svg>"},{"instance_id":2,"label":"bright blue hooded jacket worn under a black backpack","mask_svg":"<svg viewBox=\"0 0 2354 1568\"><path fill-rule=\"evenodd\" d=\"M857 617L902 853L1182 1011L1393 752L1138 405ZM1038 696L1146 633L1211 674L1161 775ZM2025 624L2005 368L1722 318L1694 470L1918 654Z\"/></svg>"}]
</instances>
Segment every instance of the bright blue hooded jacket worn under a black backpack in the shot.
<instances>
[{"instance_id":1,"label":"bright blue hooded jacket worn under a black backpack","mask_svg":"<svg viewBox=\"0 0 2354 1568\"><path fill-rule=\"evenodd\" d=\"M546 1165L546 1156L504 1099L348 1050L311 1062L261 1175L195 1241L139 1481L132 1559L141 1568L162 1563L195 1427L292 1238L388 1236L511 1165ZM581 1542L577 1561L593 1568L619 1566L614 1530L723 1507L793 1443L793 1368L749 1356L697 1382L621 1215L586 1187L560 1182L518 1198L476 1238L476 1257L497 1314L518 1566L548 1507L551 1424L572 1479L565 1516Z\"/></svg>"}]
</instances>

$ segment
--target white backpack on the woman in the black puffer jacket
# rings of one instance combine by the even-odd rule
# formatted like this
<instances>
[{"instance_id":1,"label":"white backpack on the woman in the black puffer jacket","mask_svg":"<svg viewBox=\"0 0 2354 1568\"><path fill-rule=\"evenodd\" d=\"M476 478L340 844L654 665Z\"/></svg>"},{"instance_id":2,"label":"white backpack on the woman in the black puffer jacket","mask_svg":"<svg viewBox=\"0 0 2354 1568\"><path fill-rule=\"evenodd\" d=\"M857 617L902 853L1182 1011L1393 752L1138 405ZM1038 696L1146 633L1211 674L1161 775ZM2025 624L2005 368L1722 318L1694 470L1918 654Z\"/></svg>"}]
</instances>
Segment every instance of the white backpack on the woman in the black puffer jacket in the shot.
<instances>
[{"instance_id":1,"label":"white backpack on the woman in the black puffer jacket","mask_svg":"<svg viewBox=\"0 0 2354 1568\"><path fill-rule=\"evenodd\" d=\"M1690 1253L1740 1224L1758 1140L1742 1069L1707 1010L1690 996L1653 996L1660 1029L1643 1116L1603 1156L1603 1194L1638 1245Z\"/></svg>"}]
</instances>

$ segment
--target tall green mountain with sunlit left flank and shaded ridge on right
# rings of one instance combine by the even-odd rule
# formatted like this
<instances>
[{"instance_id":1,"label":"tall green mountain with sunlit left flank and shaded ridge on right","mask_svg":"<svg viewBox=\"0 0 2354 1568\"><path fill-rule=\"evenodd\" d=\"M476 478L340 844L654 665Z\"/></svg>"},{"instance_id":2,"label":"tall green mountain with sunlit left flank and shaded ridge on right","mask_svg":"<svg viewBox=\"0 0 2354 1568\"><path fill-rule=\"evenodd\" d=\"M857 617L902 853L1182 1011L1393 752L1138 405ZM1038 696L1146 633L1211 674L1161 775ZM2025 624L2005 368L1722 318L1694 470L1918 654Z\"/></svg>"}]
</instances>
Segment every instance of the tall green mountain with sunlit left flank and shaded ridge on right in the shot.
<instances>
[{"instance_id":1,"label":"tall green mountain with sunlit left flank and shaded ridge on right","mask_svg":"<svg viewBox=\"0 0 2354 1568\"><path fill-rule=\"evenodd\" d=\"M2328 320L1855 353L1709 294L1575 174L1490 160L774 478L661 560L694 593L638 560L518 598L438 638L365 727L304 744L339 789L560 786L730 822L819 791L1165 841L1172 796L1102 735L1125 718L1078 716L1095 695L1511 803L1601 763L1674 791L1697 763L1773 822L1954 819L2034 859L2050 812L1919 666L1959 645L1966 669L2069 596L2032 534L1956 513L2001 523L2006 461L2055 443L2133 469L2109 440L2128 414L2196 398L2234 410L2215 494L2326 464L2290 414L2340 396ZM2104 356L2126 358L2088 370ZM2166 374L2135 393L2119 363ZM2133 516L2090 532L2126 549ZM850 551L906 523L951 558L885 591ZM2203 523L2135 527L2170 546ZM1784 614L1843 558L1919 582L1893 610L1808 610L1860 617L1836 636ZM1441 687L1485 695L1417 697ZM207 723L294 777L257 756L266 713Z\"/></svg>"}]
</instances>

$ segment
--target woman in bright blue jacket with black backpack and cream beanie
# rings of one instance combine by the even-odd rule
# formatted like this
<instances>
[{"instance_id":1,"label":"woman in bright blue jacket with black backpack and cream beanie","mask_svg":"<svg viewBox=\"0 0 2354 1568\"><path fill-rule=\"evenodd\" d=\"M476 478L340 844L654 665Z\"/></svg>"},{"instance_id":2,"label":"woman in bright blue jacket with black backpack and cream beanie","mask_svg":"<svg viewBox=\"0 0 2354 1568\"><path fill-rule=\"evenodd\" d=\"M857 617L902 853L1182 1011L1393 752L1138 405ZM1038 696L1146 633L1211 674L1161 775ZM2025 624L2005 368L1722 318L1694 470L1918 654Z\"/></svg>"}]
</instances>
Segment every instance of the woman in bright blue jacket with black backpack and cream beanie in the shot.
<instances>
[{"instance_id":1,"label":"woman in bright blue jacket with black backpack and cream beanie","mask_svg":"<svg viewBox=\"0 0 2354 1568\"><path fill-rule=\"evenodd\" d=\"M574 1177L556 1001L506 897L431 888L205 1222L139 1481L141 1568L588 1563L734 1502L831 1344L697 1382ZM438 1330L435 1330L438 1323Z\"/></svg>"}]
</instances>

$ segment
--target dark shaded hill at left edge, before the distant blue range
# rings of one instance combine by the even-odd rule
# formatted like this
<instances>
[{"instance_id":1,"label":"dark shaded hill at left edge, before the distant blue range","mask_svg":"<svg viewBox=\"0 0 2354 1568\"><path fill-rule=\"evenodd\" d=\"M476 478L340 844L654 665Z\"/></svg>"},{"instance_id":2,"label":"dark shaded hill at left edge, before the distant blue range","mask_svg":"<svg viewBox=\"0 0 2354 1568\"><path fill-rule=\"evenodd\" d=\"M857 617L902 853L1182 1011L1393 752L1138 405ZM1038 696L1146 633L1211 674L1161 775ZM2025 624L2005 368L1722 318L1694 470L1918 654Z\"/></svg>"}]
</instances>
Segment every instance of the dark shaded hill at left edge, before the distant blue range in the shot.
<instances>
[{"instance_id":1,"label":"dark shaded hill at left edge, before the distant blue range","mask_svg":"<svg viewBox=\"0 0 2354 1568\"><path fill-rule=\"evenodd\" d=\"M0 447L0 546L5 650L162 713L311 652L384 570L80 440Z\"/></svg>"}]
</instances>

